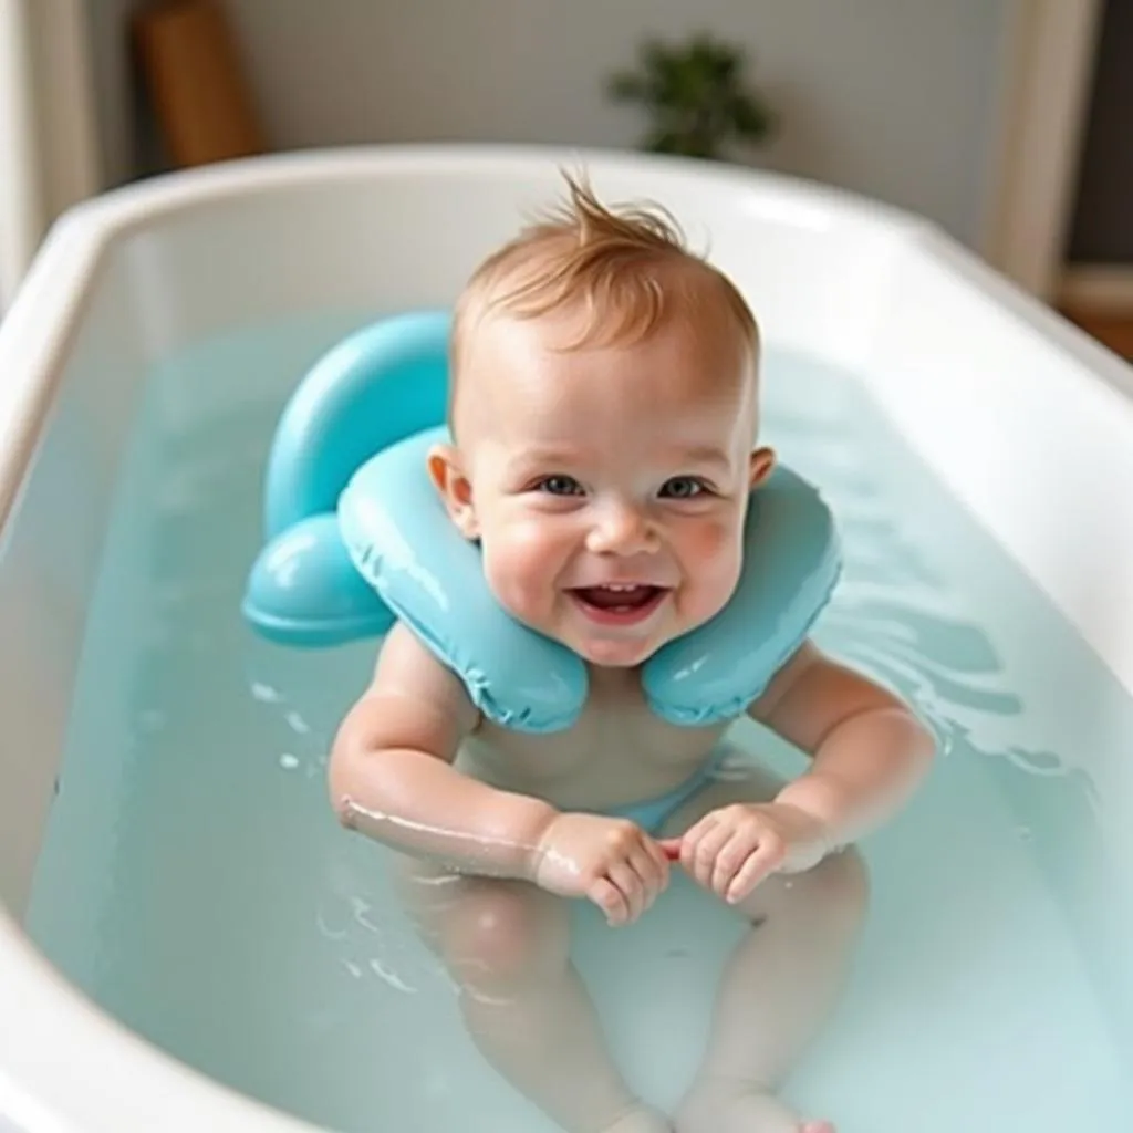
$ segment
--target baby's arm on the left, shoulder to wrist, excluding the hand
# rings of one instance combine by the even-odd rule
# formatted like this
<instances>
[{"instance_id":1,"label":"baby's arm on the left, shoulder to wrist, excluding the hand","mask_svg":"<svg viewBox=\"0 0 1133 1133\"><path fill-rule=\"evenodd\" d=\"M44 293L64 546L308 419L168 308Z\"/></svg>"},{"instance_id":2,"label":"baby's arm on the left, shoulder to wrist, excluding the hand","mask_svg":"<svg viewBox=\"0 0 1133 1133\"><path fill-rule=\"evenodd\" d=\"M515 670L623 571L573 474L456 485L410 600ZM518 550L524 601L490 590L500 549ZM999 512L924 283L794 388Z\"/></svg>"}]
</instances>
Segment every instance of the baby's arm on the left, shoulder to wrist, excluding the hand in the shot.
<instances>
[{"instance_id":1,"label":"baby's arm on the left, shoulder to wrist, excluding the hand","mask_svg":"<svg viewBox=\"0 0 1133 1133\"><path fill-rule=\"evenodd\" d=\"M529 877L556 812L452 766L476 722L457 676L395 625L331 750L331 801L343 825L455 869Z\"/></svg>"}]
</instances>

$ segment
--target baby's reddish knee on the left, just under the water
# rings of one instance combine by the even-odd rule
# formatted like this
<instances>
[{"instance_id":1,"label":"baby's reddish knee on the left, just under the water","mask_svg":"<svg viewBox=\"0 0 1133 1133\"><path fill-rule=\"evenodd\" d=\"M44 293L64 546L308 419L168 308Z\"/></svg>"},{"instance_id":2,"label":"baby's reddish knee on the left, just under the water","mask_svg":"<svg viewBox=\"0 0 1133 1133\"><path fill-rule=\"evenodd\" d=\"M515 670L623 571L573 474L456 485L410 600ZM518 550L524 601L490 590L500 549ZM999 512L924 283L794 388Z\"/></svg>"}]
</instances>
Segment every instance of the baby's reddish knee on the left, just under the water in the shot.
<instances>
[{"instance_id":1,"label":"baby's reddish knee on the left, just under the water","mask_svg":"<svg viewBox=\"0 0 1133 1133\"><path fill-rule=\"evenodd\" d=\"M522 883L482 883L441 926L446 964L465 983L514 986L559 974L569 959L562 901Z\"/></svg>"}]
</instances>

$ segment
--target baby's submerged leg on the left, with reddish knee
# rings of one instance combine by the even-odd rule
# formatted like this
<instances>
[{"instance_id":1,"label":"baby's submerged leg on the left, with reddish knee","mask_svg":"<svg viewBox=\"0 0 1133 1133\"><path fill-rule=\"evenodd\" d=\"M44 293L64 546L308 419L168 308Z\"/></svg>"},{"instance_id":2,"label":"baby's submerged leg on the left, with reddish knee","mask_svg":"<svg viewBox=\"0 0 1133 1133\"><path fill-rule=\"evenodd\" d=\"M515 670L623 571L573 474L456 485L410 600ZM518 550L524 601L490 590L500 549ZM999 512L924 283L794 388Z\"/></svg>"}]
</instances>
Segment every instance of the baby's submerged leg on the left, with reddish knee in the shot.
<instances>
[{"instance_id":1,"label":"baby's submerged leg on the left, with reddish knee","mask_svg":"<svg viewBox=\"0 0 1133 1133\"><path fill-rule=\"evenodd\" d=\"M526 881L406 861L399 891L460 985L487 1060L569 1133L671 1133L622 1081L570 962L566 903Z\"/></svg>"}]
</instances>

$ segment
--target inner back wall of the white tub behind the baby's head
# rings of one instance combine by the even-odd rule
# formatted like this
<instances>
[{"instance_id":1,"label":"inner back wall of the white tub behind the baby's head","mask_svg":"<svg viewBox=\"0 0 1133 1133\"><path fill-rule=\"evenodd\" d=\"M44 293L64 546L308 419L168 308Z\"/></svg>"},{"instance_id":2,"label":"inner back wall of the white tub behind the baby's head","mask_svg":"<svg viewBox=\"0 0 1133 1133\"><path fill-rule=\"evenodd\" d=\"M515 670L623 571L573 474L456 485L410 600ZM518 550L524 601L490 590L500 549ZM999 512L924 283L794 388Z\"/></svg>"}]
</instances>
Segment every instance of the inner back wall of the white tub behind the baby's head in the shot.
<instances>
[{"instance_id":1,"label":"inner back wall of the white tub behind the baby's head","mask_svg":"<svg viewBox=\"0 0 1133 1133\"><path fill-rule=\"evenodd\" d=\"M527 164L465 172L459 184L450 172L438 162L436 176L394 168L382 181L347 176L174 204L128 238L136 317L168 355L233 323L292 312L450 305L479 259L563 194L550 164L539 176ZM892 212L849 198L844 213L832 210L841 195L806 182L738 191L735 178L688 171L658 176L645 194L640 174L616 163L593 182L604 199L661 199L689 242L741 283L778 343L821 344L849 359L883 330L906 235ZM128 190L122 201L128 207Z\"/></svg>"}]
</instances>

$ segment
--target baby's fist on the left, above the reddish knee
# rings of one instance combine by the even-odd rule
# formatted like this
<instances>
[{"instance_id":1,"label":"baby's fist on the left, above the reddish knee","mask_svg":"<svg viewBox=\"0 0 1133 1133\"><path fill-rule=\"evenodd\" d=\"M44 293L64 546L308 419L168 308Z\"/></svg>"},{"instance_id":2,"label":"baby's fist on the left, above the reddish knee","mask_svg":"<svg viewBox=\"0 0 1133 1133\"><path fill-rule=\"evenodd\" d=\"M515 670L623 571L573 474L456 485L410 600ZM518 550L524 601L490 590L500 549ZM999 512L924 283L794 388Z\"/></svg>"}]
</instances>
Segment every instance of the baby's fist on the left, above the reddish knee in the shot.
<instances>
[{"instance_id":1,"label":"baby's fist on the left, above the reddish knee","mask_svg":"<svg viewBox=\"0 0 1133 1133\"><path fill-rule=\"evenodd\" d=\"M539 838L535 884L564 897L586 897L611 925L628 925L668 885L668 860L636 823L564 813Z\"/></svg>"}]
</instances>

